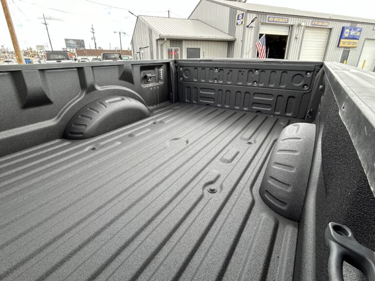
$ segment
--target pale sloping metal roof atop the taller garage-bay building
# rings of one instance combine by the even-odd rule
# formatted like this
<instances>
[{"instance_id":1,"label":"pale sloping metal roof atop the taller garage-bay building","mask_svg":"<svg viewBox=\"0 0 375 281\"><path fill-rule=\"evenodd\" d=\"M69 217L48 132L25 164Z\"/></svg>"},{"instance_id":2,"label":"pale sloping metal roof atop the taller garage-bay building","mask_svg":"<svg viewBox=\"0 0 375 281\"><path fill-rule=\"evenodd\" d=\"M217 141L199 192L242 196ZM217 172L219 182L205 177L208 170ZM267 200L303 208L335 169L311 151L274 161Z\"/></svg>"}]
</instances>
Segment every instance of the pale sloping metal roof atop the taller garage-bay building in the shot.
<instances>
[{"instance_id":1,"label":"pale sloping metal roof atop the taller garage-bay building","mask_svg":"<svg viewBox=\"0 0 375 281\"><path fill-rule=\"evenodd\" d=\"M363 23L375 23L375 20L371 20L371 19L362 19L362 18L356 18L356 17L334 15L334 14L301 11L301 10L285 8L285 7L275 7L275 6L242 3L242 2L226 1L226 0L209 0L209 1L215 2L218 4L223 4L223 5L233 7L239 10L249 11L249 12L291 15L291 16L319 18L319 19L327 19L327 20L342 20L342 21L357 21L357 22L363 22Z\"/></svg>"}]
</instances>

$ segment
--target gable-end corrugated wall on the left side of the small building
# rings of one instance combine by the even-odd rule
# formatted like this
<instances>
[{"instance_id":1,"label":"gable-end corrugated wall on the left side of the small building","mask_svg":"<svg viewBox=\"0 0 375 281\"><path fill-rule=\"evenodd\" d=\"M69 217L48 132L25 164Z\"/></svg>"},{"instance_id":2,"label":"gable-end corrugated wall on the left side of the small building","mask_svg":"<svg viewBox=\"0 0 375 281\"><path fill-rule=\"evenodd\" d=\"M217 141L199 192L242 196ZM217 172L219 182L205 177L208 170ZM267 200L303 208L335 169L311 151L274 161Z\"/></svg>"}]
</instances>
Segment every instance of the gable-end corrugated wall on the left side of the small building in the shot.
<instances>
[{"instance_id":1,"label":"gable-end corrugated wall on the left side of the small building","mask_svg":"<svg viewBox=\"0 0 375 281\"><path fill-rule=\"evenodd\" d=\"M133 59L135 60L135 53L139 52L140 47L149 46L143 49L144 55L142 59L156 60L158 59L158 46L156 42L157 34L151 30L142 20L138 19L131 40L131 49L133 50ZM139 59L139 58L138 58Z\"/></svg>"}]
</instances>

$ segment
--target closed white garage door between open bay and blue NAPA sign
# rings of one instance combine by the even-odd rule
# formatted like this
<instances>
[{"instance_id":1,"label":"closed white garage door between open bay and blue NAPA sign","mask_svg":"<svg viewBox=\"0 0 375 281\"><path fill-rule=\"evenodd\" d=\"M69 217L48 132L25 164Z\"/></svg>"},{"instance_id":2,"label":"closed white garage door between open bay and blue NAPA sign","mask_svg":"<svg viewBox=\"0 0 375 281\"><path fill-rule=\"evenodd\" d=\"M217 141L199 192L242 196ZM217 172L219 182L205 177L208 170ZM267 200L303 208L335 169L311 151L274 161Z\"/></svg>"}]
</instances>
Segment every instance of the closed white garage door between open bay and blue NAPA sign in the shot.
<instances>
[{"instance_id":1,"label":"closed white garage door between open bay and blue NAPA sign","mask_svg":"<svg viewBox=\"0 0 375 281\"><path fill-rule=\"evenodd\" d=\"M329 31L329 28L305 27L299 59L322 60Z\"/></svg>"}]
</instances>

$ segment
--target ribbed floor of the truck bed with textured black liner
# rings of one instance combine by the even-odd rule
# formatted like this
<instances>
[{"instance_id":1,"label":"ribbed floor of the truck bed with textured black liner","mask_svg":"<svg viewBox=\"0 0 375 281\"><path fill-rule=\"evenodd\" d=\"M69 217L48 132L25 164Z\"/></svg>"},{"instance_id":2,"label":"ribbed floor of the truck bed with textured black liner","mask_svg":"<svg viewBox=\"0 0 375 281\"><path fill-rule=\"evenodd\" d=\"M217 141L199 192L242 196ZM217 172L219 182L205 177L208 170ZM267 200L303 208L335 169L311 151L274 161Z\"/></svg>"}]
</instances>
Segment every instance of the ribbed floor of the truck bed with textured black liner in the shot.
<instances>
[{"instance_id":1,"label":"ribbed floor of the truck bed with textured black liner","mask_svg":"<svg viewBox=\"0 0 375 281\"><path fill-rule=\"evenodd\" d=\"M291 280L297 223L259 185L292 122L168 103L0 158L0 279Z\"/></svg>"}]
</instances>

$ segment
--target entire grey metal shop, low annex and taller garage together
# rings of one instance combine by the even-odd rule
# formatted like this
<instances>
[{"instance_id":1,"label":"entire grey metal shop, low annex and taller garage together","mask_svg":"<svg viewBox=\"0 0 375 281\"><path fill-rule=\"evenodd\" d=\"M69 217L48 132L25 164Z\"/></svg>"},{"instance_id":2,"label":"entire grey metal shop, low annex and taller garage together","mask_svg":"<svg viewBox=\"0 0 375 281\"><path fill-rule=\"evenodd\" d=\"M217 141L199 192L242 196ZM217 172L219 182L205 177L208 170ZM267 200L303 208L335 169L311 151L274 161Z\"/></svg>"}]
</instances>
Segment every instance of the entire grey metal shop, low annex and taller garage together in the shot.
<instances>
[{"instance_id":1,"label":"entire grey metal shop, low annex and taller garage together","mask_svg":"<svg viewBox=\"0 0 375 281\"><path fill-rule=\"evenodd\" d=\"M201 0L188 19L138 17L132 49L134 59L144 46L141 59L256 58L263 34L270 59L375 68L375 20L226 0Z\"/></svg>"}]
</instances>

